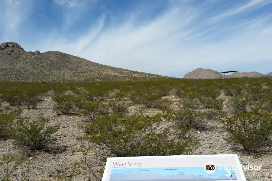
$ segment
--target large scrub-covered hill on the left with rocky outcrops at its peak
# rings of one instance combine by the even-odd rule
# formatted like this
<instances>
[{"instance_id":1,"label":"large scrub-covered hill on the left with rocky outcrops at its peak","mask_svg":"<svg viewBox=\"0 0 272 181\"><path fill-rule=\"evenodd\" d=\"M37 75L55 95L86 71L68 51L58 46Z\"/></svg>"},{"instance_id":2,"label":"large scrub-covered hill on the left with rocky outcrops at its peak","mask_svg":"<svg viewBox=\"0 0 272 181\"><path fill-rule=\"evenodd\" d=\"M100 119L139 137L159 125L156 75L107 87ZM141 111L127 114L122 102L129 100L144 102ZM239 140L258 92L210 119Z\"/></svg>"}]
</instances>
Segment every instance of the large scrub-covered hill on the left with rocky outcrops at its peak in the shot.
<instances>
[{"instance_id":1,"label":"large scrub-covered hill on the left with rocky outcrops at its peak","mask_svg":"<svg viewBox=\"0 0 272 181\"><path fill-rule=\"evenodd\" d=\"M167 78L115 68L63 52L26 52L18 43L0 44L0 81L135 81Z\"/></svg>"}]
</instances>

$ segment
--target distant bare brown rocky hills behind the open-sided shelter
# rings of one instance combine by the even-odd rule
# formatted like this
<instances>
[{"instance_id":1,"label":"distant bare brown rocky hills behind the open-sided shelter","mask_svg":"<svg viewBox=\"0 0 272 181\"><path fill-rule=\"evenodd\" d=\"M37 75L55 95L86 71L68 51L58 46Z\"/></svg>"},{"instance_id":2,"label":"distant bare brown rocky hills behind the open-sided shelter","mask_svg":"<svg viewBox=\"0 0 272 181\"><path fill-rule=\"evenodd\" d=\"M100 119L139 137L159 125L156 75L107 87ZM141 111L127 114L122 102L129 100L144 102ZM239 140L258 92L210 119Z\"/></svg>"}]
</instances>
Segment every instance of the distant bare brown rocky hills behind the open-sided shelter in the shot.
<instances>
[{"instance_id":1,"label":"distant bare brown rocky hills behind the open-sided shelter","mask_svg":"<svg viewBox=\"0 0 272 181\"><path fill-rule=\"evenodd\" d=\"M272 72L270 73L272 74ZM239 72L239 77L248 77L248 78L258 78L264 76L263 74L253 71L253 72ZM225 73L225 78L237 78L238 73ZM203 68L197 68L186 75L184 75L183 78L190 78L190 79L220 79L224 78L224 74L219 74L218 71L212 70L212 69L203 69Z\"/></svg>"}]
</instances>

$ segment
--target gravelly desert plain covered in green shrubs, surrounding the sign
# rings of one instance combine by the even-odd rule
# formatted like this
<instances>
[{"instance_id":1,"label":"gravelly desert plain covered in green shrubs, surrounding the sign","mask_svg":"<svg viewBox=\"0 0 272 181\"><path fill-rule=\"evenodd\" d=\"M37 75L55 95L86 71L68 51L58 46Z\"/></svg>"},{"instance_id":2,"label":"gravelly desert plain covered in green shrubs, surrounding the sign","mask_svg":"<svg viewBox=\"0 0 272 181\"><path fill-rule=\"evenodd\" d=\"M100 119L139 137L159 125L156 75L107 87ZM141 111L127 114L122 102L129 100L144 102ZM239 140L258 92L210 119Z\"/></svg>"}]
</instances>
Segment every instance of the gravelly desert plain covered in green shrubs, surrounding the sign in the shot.
<instances>
[{"instance_id":1,"label":"gravelly desert plain covered in green shrubs, surrounding the sign","mask_svg":"<svg viewBox=\"0 0 272 181\"><path fill-rule=\"evenodd\" d=\"M267 77L0 87L2 179L101 180L107 157L233 153L263 165L248 180L271 179Z\"/></svg>"}]
</instances>

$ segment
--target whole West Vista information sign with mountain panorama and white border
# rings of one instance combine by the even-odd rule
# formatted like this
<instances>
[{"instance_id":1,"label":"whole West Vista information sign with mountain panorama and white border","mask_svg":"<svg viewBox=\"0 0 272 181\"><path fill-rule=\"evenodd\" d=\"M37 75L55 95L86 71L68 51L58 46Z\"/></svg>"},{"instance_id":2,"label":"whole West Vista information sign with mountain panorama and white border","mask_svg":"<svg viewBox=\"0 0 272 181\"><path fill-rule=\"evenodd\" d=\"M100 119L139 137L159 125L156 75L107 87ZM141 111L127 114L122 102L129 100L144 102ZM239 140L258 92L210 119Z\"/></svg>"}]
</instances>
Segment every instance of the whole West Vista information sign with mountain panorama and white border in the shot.
<instances>
[{"instance_id":1,"label":"whole West Vista information sign with mountain panorama and white border","mask_svg":"<svg viewBox=\"0 0 272 181\"><path fill-rule=\"evenodd\" d=\"M237 154L108 158L102 181L246 181Z\"/></svg>"}]
</instances>

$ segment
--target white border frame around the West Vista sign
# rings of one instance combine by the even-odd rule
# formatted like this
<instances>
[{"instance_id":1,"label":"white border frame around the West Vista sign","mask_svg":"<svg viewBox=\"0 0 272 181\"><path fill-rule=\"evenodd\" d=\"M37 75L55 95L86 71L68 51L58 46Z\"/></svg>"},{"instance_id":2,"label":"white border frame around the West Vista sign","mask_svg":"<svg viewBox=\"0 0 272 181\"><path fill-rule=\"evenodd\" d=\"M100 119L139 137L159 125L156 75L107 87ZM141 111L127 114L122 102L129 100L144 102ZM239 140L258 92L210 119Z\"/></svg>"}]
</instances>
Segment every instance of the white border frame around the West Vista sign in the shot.
<instances>
[{"instance_id":1,"label":"white border frame around the West Vista sign","mask_svg":"<svg viewBox=\"0 0 272 181\"><path fill-rule=\"evenodd\" d=\"M123 161L129 161L129 160L132 160L132 159L133 160L135 160L135 159L136 160L138 160L138 159L166 159L167 160L167 158L207 158L207 157L210 157L210 158L216 158L216 157L234 157L236 166L241 166L237 154L146 156L146 157L110 157L110 158L107 159L105 170L104 170L104 173L103 173L102 181L109 181L109 179L110 179L109 178L110 174L108 174L108 171L112 170L112 167L110 167L110 162L112 160L123 160ZM203 167L204 167L204 165L203 165ZM157 167L154 167L154 168L157 168ZM238 169L237 172L239 173L239 175L240 175L241 178L239 178L239 179L237 178L235 181L246 181L246 178L244 176L243 170L242 169Z\"/></svg>"}]
</instances>

